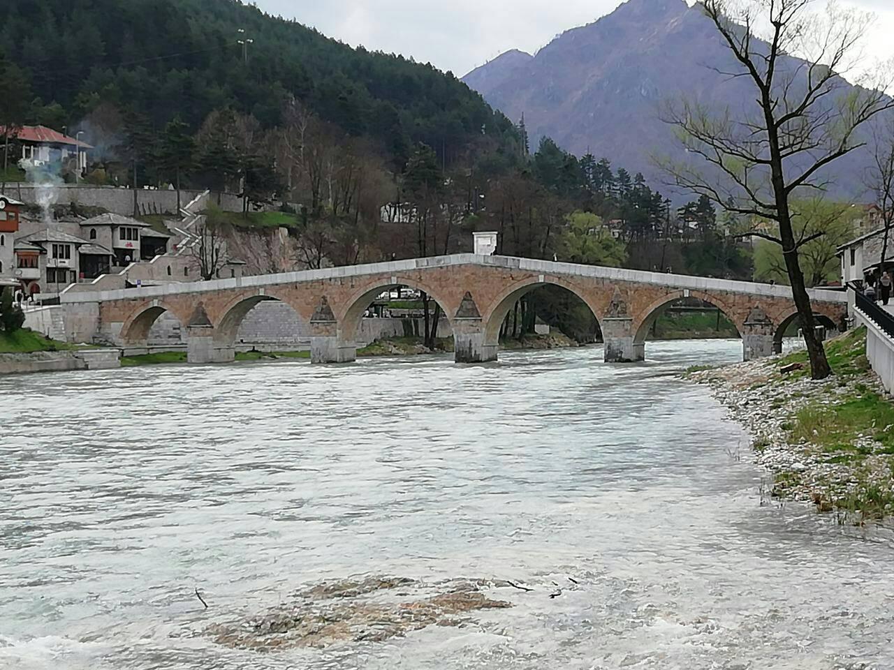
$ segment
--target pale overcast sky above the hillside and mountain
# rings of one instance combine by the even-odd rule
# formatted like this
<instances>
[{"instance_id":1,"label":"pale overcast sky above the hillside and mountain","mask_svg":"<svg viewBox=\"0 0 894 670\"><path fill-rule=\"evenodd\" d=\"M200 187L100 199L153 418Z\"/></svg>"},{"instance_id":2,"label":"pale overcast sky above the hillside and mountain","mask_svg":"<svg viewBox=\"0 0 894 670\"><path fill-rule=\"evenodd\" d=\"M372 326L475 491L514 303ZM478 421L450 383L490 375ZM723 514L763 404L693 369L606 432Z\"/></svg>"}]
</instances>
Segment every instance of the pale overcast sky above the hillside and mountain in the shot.
<instances>
[{"instance_id":1,"label":"pale overcast sky above the hillside and mountain","mask_svg":"<svg viewBox=\"0 0 894 670\"><path fill-rule=\"evenodd\" d=\"M352 46L412 56L457 76L508 49L534 53L563 30L595 21L620 0L256 0ZM822 0L820 0L822 2ZM894 0L843 0L878 15L873 54L894 56Z\"/></svg>"}]
</instances>

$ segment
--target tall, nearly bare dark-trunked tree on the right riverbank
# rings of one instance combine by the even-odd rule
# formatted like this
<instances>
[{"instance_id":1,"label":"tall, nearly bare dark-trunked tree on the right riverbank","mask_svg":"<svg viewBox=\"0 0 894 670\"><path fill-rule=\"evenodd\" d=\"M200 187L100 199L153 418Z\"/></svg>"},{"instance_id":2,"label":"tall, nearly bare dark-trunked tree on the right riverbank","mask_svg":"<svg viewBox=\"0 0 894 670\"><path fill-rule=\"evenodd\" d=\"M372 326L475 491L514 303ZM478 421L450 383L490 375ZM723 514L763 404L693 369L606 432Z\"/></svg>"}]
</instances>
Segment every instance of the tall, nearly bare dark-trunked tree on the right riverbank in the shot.
<instances>
[{"instance_id":1,"label":"tall, nearly bare dark-trunked tree on the right riverbank","mask_svg":"<svg viewBox=\"0 0 894 670\"><path fill-rule=\"evenodd\" d=\"M867 22L864 14L830 4L822 16L809 11L811 0L704 0L734 66L732 78L755 88L755 105L746 110L711 110L694 101L668 105L665 120L675 126L687 152L701 164L661 162L674 181L738 214L774 222L778 234L755 235L781 247L786 273L804 333L811 375L831 374L822 341L814 331L800 254L824 234L798 235L791 201L822 191L829 183L823 168L864 141L857 130L894 105L884 91L890 81L866 80L848 90L841 78ZM770 27L766 41L755 30ZM789 54L798 54L802 63ZM729 71L731 68L731 71ZM724 69L718 65L718 69Z\"/></svg>"}]
</instances>

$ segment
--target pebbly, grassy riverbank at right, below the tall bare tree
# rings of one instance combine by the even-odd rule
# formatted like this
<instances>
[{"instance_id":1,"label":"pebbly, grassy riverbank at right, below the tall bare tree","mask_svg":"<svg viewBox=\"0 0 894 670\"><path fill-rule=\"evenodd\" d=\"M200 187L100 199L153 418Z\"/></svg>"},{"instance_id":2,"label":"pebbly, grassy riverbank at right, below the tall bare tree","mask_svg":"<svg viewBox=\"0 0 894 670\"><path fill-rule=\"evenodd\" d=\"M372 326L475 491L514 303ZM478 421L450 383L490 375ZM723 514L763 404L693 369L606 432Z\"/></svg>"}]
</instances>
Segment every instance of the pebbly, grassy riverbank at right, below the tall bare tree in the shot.
<instances>
[{"instance_id":1,"label":"pebbly, grassy riverbank at right, below the tall bare tree","mask_svg":"<svg viewBox=\"0 0 894 670\"><path fill-rule=\"evenodd\" d=\"M866 362L864 331L827 347L835 374L809 377L805 352L687 373L751 436L773 497L813 503L840 523L894 514L894 405Z\"/></svg>"}]
</instances>

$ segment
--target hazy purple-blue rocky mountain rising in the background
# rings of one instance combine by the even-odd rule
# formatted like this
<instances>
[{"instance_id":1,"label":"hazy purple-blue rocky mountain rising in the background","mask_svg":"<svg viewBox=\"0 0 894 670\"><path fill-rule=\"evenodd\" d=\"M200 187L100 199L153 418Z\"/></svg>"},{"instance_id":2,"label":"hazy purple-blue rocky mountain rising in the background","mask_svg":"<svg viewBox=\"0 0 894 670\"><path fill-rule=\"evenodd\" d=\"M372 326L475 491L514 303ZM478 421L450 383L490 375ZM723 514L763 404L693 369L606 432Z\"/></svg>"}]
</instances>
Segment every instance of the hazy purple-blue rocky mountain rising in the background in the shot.
<instances>
[{"instance_id":1,"label":"hazy purple-blue rocky mountain rising in the background","mask_svg":"<svg viewBox=\"0 0 894 670\"><path fill-rule=\"evenodd\" d=\"M714 109L730 105L734 113L755 107L750 80L718 72L741 70L713 23L684 0L628 0L525 55L503 54L463 80L510 119L524 115L532 147L550 137L573 154L642 172L656 187L667 177L652 156L684 156L661 120L666 101L686 96ZM801 63L783 60L792 70ZM865 153L836 162L832 195L862 197L866 164Z\"/></svg>"}]
</instances>

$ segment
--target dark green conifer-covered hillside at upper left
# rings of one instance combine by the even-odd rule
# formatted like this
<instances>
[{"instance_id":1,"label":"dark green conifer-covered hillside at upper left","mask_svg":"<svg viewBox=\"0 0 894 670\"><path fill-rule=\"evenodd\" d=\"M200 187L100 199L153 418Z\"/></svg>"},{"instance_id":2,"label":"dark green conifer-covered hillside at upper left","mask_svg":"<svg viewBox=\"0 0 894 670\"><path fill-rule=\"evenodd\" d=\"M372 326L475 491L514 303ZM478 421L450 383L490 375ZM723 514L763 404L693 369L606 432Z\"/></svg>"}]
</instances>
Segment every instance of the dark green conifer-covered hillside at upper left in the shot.
<instances>
[{"instance_id":1,"label":"dark green conifer-covered hillside at upper left","mask_svg":"<svg viewBox=\"0 0 894 670\"><path fill-rule=\"evenodd\" d=\"M515 134L450 72L354 49L239 0L4 0L0 49L30 78L26 122L69 129L102 102L156 129L231 107L271 128L290 96L397 159L425 142L457 155ZM242 42L246 42L243 44ZM400 163L397 160L396 163Z\"/></svg>"}]
</instances>

